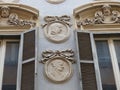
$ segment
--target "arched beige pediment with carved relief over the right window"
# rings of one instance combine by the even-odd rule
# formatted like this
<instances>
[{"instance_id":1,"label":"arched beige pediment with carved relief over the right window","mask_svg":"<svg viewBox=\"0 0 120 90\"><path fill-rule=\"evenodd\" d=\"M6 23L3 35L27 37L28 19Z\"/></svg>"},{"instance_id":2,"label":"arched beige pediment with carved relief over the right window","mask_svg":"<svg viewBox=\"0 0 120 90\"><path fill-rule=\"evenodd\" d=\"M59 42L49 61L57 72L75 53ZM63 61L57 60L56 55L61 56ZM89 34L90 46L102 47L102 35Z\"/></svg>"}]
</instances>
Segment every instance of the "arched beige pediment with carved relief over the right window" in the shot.
<instances>
[{"instance_id":1,"label":"arched beige pediment with carved relief over the right window","mask_svg":"<svg viewBox=\"0 0 120 90\"><path fill-rule=\"evenodd\" d=\"M96 2L74 9L76 28L120 28L119 2Z\"/></svg>"}]
</instances>

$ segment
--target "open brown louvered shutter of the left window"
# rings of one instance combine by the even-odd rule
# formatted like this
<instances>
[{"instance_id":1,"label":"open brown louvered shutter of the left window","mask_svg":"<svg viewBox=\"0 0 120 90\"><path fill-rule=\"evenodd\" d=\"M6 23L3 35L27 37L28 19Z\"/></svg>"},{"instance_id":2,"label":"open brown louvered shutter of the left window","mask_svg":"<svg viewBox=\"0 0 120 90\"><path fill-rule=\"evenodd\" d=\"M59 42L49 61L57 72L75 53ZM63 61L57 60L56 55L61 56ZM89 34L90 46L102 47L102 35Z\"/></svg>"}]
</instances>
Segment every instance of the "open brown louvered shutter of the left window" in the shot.
<instances>
[{"instance_id":1,"label":"open brown louvered shutter of the left window","mask_svg":"<svg viewBox=\"0 0 120 90\"><path fill-rule=\"evenodd\" d=\"M21 35L21 51L20 90L35 90L36 29Z\"/></svg>"}]
</instances>

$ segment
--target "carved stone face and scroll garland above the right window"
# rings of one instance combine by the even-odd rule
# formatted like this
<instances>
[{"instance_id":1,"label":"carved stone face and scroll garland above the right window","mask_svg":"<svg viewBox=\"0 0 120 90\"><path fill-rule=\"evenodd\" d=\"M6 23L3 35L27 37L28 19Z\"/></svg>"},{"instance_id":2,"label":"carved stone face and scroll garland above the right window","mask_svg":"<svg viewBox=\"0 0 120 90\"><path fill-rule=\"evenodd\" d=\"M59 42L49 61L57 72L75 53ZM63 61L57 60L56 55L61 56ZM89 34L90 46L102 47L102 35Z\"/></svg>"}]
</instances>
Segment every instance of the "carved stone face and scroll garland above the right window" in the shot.
<instances>
[{"instance_id":1,"label":"carved stone face and scroll garland above the right window","mask_svg":"<svg viewBox=\"0 0 120 90\"><path fill-rule=\"evenodd\" d=\"M99 11L96 11L93 18L86 18L77 22L77 26L94 24L120 24L120 12L112 10L109 4L104 4Z\"/></svg>"}]
</instances>

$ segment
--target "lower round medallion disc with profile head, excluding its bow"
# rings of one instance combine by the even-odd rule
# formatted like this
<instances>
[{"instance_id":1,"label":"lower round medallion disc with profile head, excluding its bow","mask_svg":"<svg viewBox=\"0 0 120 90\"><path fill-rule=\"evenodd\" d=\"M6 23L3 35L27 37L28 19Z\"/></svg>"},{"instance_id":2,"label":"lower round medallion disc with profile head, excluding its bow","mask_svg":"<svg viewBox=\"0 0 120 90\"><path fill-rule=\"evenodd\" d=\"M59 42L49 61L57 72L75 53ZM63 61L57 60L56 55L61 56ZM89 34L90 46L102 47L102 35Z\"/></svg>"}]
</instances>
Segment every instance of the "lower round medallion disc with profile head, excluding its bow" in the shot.
<instances>
[{"instance_id":1,"label":"lower round medallion disc with profile head, excluding its bow","mask_svg":"<svg viewBox=\"0 0 120 90\"><path fill-rule=\"evenodd\" d=\"M45 64L45 74L53 82L60 83L68 80L72 75L72 64L60 57L48 60Z\"/></svg>"}]
</instances>

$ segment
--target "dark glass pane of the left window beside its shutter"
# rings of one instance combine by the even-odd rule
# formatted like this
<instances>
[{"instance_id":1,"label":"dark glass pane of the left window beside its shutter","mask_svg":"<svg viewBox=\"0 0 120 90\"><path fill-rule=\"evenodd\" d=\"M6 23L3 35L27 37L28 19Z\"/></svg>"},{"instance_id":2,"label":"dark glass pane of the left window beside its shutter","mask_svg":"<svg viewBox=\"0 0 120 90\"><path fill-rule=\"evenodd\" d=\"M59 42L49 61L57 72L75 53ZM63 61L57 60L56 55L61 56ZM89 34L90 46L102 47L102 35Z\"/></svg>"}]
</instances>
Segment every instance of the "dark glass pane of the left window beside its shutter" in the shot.
<instances>
[{"instance_id":1,"label":"dark glass pane of the left window beside its shutter","mask_svg":"<svg viewBox=\"0 0 120 90\"><path fill-rule=\"evenodd\" d=\"M7 42L2 90L16 90L18 50L18 42Z\"/></svg>"}]
</instances>

